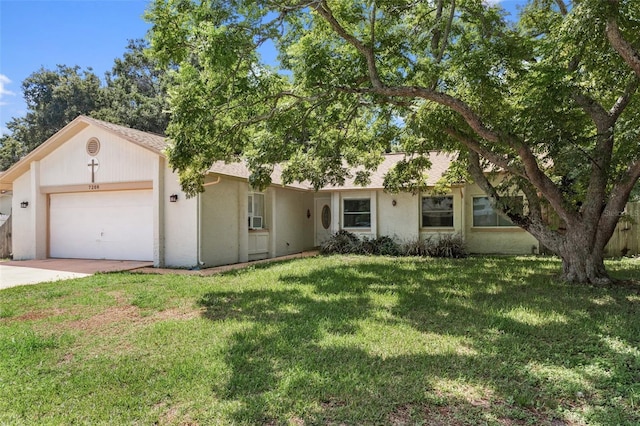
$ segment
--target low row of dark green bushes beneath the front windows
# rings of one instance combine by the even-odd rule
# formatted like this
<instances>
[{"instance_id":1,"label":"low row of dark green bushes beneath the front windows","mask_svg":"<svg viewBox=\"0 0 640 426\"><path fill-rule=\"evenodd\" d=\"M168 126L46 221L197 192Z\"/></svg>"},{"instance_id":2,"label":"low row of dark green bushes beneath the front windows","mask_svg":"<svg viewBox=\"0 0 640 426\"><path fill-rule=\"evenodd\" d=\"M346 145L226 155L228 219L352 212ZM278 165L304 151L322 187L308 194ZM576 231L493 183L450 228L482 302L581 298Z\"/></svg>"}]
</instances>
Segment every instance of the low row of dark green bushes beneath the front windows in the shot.
<instances>
[{"instance_id":1,"label":"low row of dark green bushes beneath the front windows","mask_svg":"<svg viewBox=\"0 0 640 426\"><path fill-rule=\"evenodd\" d=\"M460 234L441 234L398 243L390 237L359 238L348 231L338 231L320 245L322 254L368 254L381 256L430 256L461 258L467 249Z\"/></svg>"}]
</instances>

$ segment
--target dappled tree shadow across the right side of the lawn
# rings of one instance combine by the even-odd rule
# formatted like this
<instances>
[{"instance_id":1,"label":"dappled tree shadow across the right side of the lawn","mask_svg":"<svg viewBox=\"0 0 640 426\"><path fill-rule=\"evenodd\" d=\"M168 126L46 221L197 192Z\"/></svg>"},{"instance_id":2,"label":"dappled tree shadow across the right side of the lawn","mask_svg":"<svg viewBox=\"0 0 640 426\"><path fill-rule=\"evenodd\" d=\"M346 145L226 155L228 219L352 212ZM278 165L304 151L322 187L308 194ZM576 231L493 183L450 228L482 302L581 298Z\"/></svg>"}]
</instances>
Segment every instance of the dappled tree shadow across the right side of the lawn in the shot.
<instances>
[{"instance_id":1,"label":"dappled tree shadow across the right side of the lawn","mask_svg":"<svg viewBox=\"0 0 640 426\"><path fill-rule=\"evenodd\" d=\"M244 324L214 387L233 421L640 421L637 288L557 283L536 258L316 262L202 298Z\"/></svg>"}]
</instances>

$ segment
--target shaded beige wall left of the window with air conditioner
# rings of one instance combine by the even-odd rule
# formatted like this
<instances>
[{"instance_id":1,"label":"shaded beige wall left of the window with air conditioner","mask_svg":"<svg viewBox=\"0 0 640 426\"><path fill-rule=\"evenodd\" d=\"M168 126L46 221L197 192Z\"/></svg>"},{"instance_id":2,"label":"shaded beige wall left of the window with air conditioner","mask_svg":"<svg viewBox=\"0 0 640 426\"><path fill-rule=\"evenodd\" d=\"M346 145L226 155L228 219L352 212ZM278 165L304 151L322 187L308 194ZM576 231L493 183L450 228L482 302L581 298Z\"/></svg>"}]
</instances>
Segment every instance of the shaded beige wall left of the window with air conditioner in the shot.
<instances>
[{"instance_id":1,"label":"shaded beige wall left of the window with air conditioner","mask_svg":"<svg viewBox=\"0 0 640 426\"><path fill-rule=\"evenodd\" d=\"M222 178L216 185L207 186L201 197L202 251L206 266L225 265L240 261L239 229L247 228L247 215L240 211L240 197L247 197L247 183ZM244 203L246 206L246 203ZM246 247L246 244L244 245Z\"/></svg>"}]
</instances>

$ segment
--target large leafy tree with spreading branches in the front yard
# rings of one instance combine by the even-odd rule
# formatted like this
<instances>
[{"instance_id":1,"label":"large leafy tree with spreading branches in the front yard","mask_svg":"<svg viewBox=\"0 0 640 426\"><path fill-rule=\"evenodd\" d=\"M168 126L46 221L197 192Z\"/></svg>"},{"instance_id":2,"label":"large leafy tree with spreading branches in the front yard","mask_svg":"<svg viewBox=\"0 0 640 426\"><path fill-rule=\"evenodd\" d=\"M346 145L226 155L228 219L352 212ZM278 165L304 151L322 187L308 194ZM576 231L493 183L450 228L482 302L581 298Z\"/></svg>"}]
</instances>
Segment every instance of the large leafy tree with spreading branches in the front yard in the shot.
<instances>
[{"instance_id":1,"label":"large leafy tree with spreading branches in the front yard","mask_svg":"<svg viewBox=\"0 0 640 426\"><path fill-rule=\"evenodd\" d=\"M458 152L567 280L609 281L640 176L640 2L531 0L513 21L480 0L156 0L148 19L179 66L169 160L190 194L215 160L321 187L354 168L366 182L392 149L407 159L389 189L415 190L420 154Z\"/></svg>"}]
</instances>

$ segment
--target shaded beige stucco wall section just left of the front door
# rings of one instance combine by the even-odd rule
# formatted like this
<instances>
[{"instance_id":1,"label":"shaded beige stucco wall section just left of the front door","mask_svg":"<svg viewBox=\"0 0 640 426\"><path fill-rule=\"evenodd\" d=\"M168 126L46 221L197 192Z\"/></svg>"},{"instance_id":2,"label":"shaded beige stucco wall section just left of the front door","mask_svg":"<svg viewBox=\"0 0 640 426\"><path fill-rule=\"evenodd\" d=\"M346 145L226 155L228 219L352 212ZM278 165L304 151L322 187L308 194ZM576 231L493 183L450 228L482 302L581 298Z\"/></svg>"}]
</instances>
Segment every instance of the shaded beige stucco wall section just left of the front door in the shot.
<instances>
[{"instance_id":1,"label":"shaded beige stucco wall section just left of the front door","mask_svg":"<svg viewBox=\"0 0 640 426\"><path fill-rule=\"evenodd\" d=\"M285 256L312 248L314 194L284 188L271 188L271 191L275 193L276 203L275 255Z\"/></svg>"}]
</instances>

